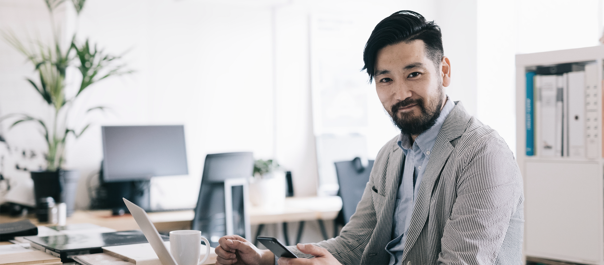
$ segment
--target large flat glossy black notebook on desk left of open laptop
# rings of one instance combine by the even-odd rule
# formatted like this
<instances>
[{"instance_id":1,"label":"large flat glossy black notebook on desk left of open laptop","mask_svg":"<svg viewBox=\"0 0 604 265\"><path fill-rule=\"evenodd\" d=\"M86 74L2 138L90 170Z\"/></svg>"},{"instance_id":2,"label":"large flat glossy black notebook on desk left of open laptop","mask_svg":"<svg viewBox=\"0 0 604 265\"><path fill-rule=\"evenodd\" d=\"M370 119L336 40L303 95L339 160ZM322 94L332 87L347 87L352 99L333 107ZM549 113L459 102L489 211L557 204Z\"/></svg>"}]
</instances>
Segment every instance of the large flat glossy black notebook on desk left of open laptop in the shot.
<instances>
[{"instance_id":1,"label":"large flat glossy black notebook on desk left of open laptop","mask_svg":"<svg viewBox=\"0 0 604 265\"><path fill-rule=\"evenodd\" d=\"M164 241L169 241L170 237L161 235ZM138 244L147 243L147 238L143 232L138 230L121 231L111 233L94 234L73 234L73 235L51 235L49 237L25 237L31 241L31 246L44 251L51 251L50 254L60 256L61 261L71 262L67 258L71 255L95 254L103 252L101 247L117 246L120 244ZM54 252L54 253L52 253Z\"/></svg>"}]
</instances>

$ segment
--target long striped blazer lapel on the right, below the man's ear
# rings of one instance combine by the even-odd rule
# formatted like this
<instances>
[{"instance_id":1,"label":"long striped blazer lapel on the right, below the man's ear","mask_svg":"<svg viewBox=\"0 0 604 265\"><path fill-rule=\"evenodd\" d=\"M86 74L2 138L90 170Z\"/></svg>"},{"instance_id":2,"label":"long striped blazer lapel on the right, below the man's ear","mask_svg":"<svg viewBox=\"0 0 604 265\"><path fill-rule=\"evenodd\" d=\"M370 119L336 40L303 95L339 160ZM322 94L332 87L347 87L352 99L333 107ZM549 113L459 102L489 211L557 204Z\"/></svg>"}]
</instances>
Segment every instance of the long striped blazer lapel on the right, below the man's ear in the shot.
<instances>
[{"instance_id":1,"label":"long striped blazer lapel on the right, below the man's ear","mask_svg":"<svg viewBox=\"0 0 604 265\"><path fill-rule=\"evenodd\" d=\"M432 189L454 149L451 141L463 135L469 121L470 116L461 105L461 102L456 101L455 107L453 107L445 119L443 127L439 132L439 136L436 138L428 165L426 165L426 171L423 173L422 183L420 184L416 204L413 208L413 214L411 215L411 223L409 231L407 232L403 258L406 257L413 244L415 244L417 237L420 232L422 232L423 226L426 223L426 218L428 218L428 213L430 211L430 196L432 195Z\"/></svg>"}]
</instances>

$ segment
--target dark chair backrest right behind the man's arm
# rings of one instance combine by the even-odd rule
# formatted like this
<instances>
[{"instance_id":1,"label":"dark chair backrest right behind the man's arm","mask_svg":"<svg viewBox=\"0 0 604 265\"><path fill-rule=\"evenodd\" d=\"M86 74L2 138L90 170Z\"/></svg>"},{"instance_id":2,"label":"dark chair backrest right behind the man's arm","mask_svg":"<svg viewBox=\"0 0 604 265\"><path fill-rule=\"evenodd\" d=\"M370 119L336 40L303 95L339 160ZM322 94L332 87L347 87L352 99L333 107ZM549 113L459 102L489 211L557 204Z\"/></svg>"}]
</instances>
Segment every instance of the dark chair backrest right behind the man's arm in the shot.
<instances>
[{"instance_id":1,"label":"dark chair backrest right behind the man's arm","mask_svg":"<svg viewBox=\"0 0 604 265\"><path fill-rule=\"evenodd\" d=\"M361 201L373 162L370 160L366 167L362 165L360 158L335 162L339 185L338 195L342 197L344 224L348 223L350 216L356 211L356 205Z\"/></svg>"}]
</instances>

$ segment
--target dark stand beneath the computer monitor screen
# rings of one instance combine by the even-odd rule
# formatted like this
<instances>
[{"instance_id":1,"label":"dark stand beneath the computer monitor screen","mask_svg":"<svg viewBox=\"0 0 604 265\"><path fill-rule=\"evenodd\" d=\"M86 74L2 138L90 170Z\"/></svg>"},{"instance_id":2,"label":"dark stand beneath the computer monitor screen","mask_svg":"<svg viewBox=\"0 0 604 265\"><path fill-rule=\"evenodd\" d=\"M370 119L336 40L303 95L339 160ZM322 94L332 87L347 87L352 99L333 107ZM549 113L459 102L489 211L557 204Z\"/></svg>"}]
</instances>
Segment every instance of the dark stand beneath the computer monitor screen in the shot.
<instances>
[{"instance_id":1,"label":"dark stand beneath the computer monitor screen","mask_svg":"<svg viewBox=\"0 0 604 265\"><path fill-rule=\"evenodd\" d=\"M150 180L104 182L102 185L107 192L107 206L112 209L114 215L121 216L129 212L124 204L124 200L121 198L126 198L146 211L149 211L151 208L149 196Z\"/></svg>"}]
</instances>

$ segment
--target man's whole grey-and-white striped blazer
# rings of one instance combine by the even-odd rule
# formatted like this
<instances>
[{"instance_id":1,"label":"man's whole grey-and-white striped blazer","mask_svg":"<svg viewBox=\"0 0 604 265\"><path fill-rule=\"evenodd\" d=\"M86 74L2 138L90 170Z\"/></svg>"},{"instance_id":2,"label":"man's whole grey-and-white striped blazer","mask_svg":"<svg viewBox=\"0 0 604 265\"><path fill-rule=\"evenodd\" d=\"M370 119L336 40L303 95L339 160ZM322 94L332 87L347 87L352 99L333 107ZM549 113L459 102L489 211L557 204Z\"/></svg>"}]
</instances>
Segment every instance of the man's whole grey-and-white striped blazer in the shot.
<instances>
[{"instance_id":1,"label":"man's whole grey-and-white striped blazer","mask_svg":"<svg viewBox=\"0 0 604 265\"><path fill-rule=\"evenodd\" d=\"M378 153L350 222L316 244L342 264L388 264L403 161L395 137ZM522 264L523 200L510 148L457 101L432 148L399 264Z\"/></svg>"}]
</instances>

